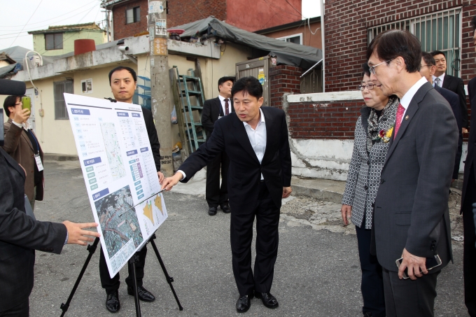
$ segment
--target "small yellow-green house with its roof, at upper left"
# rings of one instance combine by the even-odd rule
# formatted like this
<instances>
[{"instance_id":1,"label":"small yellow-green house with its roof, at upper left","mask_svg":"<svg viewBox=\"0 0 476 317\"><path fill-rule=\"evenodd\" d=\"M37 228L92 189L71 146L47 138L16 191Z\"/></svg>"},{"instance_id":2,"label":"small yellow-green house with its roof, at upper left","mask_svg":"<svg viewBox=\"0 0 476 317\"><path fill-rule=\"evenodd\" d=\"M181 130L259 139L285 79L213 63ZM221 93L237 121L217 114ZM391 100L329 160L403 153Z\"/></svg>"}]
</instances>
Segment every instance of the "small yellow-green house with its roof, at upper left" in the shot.
<instances>
[{"instance_id":1,"label":"small yellow-green house with its roof, at upper left","mask_svg":"<svg viewBox=\"0 0 476 317\"><path fill-rule=\"evenodd\" d=\"M33 34L33 49L44 56L72 52L74 41L80 38L92 39L96 45L106 42L106 31L95 23L59 25L28 34Z\"/></svg>"}]
</instances>

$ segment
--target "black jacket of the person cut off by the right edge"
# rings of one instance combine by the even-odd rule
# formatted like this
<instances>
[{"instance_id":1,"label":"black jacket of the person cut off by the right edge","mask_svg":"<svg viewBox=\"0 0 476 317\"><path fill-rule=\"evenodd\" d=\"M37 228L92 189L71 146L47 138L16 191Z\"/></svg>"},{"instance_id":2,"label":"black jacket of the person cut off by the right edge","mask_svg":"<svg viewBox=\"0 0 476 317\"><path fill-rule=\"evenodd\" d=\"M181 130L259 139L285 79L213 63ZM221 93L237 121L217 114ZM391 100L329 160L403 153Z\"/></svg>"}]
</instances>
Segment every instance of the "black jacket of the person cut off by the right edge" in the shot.
<instances>
[{"instance_id":1,"label":"black jacket of the person cut off by the right edge","mask_svg":"<svg viewBox=\"0 0 476 317\"><path fill-rule=\"evenodd\" d=\"M475 146L476 146L476 77L472 78L468 83L468 95L470 97L471 105L471 123L470 123L470 137L468 139L468 154L466 155L466 160L464 164L464 181L463 181L463 192L461 195L461 212L463 211L463 202L466 195L475 195L472 192L472 189L468 189L468 181L470 177L475 177L476 175L470 175L471 165L475 163ZM473 166L473 169L475 167ZM469 191L471 190L471 191ZM471 210L469 210L471 212Z\"/></svg>"}]
</instances>

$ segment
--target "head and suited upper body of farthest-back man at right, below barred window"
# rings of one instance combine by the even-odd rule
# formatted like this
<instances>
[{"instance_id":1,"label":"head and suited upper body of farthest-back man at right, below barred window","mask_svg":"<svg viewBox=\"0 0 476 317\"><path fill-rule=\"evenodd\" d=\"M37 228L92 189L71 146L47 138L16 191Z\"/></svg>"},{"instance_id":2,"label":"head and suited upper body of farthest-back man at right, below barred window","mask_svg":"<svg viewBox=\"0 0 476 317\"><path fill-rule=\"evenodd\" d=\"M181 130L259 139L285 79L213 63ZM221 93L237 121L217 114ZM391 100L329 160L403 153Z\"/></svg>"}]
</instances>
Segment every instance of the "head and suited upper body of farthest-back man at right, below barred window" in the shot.
<instances>
[{"instance_id":1,"label":"head and suited upper body of farthest-back man at right, below barred window","mask_svg":"<svg viewBox=\"0 0 476 317\"><path fill-rule=\"evenodd\" d=\"M459 97L459 106L461 109L461 120L463 128L461 132L468 133L468 107L466 106L466 93L464 92L463 80L444 72L447 71L447 60L444 52L434 50L431 52L436 63L436 71L433 75L433 82L444 89L451 90ZM437 79L438 78L438 79Z\"/></svg>"}]
</instances>

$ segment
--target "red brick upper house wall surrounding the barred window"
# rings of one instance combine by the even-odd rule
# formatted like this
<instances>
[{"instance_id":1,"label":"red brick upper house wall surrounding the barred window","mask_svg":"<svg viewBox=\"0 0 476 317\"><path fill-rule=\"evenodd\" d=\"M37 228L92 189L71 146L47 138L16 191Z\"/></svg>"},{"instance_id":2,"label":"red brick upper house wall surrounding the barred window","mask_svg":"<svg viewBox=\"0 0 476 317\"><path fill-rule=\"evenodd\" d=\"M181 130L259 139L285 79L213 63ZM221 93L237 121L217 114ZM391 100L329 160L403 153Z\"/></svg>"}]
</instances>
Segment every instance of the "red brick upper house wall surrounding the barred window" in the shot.
<instances>
[{"instance_id":1,"label":"red brick upper house wall surrounding the barred window","mask_svg":"<svg viewBox=\"0 0 476 317\"><path fill-rule=\"evenodd\" d=\"M325 2L325 91L352 90L360 81L365 62L367 28L463 6L462 78L476 73L471 17L476 3L470 0L331 0Z\"/></svg>"}]
</instances>

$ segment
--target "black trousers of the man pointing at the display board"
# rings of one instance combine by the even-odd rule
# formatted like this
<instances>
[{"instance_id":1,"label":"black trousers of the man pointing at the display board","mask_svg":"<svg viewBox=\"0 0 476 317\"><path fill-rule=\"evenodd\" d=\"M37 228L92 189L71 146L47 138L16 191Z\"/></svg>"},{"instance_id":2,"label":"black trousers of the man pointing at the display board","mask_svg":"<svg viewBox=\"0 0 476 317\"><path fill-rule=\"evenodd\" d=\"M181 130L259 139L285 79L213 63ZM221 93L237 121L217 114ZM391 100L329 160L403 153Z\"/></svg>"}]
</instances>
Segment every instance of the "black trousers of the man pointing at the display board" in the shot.
<instances>
[{"instance_id":1,"label":"black trousers of the man pointing at the display board","mask_svg":"<svg viewBox=\"0 0 476 317\"><path fill-rule=\"evenodd\" d=\"M233 274L239 295L249 295L256 290L271 290L274 263L278 255L279 208L274 204L265 183L258 185L258 200L246 210L232 209L230 238ZM251 240L256 217L256 258L254 276L251 271Z\"/></svg>"}]
</instances>

